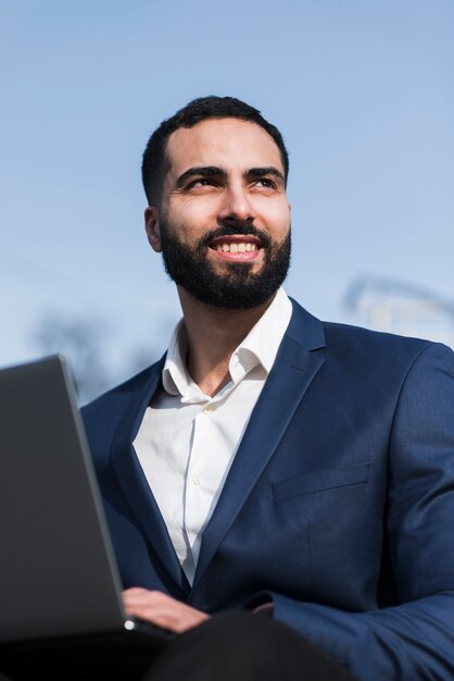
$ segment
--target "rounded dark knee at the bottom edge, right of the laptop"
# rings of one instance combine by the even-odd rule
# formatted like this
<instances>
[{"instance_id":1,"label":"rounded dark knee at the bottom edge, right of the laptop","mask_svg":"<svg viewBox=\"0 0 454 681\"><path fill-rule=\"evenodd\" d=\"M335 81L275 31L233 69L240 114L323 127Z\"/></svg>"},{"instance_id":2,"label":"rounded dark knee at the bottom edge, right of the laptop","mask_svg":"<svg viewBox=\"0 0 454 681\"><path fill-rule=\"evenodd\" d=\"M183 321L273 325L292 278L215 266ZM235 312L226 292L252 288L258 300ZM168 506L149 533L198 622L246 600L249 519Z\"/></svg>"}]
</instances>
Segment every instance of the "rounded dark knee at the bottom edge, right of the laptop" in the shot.
<instances>
[{"instance_id":1,"label":"rounded dark knee at the bottom edge, right of the laptop","mask_svg":"<svg viewBox=\"0 0 454 681\"><path fill-rule=\"evenodd\" d=\"M264 615L215 615L178 636L144 681L355 681L323 651Z\"/></svg>"}]
</instances>

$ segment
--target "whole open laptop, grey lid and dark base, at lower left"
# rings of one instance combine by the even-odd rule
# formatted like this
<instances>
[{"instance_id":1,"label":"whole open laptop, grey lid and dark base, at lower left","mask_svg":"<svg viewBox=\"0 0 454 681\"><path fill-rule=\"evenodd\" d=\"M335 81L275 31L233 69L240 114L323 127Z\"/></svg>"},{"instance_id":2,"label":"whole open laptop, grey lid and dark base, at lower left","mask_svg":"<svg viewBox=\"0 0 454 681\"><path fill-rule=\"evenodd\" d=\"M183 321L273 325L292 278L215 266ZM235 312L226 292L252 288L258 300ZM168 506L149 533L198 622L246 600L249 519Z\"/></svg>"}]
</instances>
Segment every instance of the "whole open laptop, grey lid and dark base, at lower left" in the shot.
<instances>
[{"instance_id":1,"label":"whole open laptop, grey lid and dark base, at lower left","mask_svg":"<svg viewBox=\"0 0 454 681\"><path fill-rule=\"evenodd\" d=\"M11 679L140 678L175 636L124 611L60 356L0 370L0 672Z\"/></svg>"}]
</instances>

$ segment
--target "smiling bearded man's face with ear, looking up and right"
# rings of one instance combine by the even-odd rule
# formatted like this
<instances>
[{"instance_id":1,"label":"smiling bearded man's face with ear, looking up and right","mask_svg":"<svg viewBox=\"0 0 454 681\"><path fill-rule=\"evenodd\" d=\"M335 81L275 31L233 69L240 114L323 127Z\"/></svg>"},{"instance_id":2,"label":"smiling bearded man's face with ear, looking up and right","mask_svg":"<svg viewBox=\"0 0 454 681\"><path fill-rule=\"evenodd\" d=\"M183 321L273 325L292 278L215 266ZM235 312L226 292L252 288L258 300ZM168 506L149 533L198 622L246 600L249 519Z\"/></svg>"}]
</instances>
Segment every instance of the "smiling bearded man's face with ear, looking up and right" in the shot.
<instances>
[{"instance_id":1,"label":"smiling bearded man's face with ear, looking up and right","mask_svg":"<svg viewBox=\"0 0 454 681\"><path fill-rule=\"evenodd\" d=\"M171 135L167 160L161 206L146 215L171 277L209 305L266 302L290 259L290 207L273 138L254 123L209 119Z\"/></svg>"}]
</instances>

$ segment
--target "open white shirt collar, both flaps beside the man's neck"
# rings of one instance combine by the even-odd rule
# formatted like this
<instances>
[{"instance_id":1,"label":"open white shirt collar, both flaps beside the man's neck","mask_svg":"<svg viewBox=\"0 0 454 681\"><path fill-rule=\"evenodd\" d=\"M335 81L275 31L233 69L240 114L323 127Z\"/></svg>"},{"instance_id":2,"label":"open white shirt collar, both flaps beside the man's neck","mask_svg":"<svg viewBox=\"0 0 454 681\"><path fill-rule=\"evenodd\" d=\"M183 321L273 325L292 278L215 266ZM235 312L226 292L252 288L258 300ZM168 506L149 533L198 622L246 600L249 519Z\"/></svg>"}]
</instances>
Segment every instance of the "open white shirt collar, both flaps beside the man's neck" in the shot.
<instances>
[{"instance_id":1,"label":"open white shirt collar, both flaps beside the man's neck","mask_svg":"<svg viewBox=\"0 0 454 681\"><path fill-rule=\"evenodd\" d=\"M231 355L229 372L234 384L239 383L258 364L263 367L266 375L269 373L291 313L291 301L280 287L272 305ZM192 401L194 398L203 397L203 393L186 369L187 351L185 323L180 320L171 337L162 381L166 393L181 395L184 401Z\"/></svg>"}]
</instances>

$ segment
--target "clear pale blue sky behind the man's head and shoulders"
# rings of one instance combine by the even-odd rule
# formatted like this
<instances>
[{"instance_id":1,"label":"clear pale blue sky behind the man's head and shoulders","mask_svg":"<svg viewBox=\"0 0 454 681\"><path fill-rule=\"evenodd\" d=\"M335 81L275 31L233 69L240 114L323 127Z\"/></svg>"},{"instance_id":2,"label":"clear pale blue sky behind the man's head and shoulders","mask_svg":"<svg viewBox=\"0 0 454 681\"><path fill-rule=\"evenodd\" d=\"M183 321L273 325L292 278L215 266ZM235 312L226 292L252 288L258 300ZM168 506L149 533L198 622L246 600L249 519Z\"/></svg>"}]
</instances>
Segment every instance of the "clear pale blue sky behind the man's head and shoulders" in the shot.
<instances>
[{"instance_id":1,"label":"clear pale blue sky behind the man's head and shoulders","mask_svg":"<svg viewBox=\"0 0 454 681\"><path fill-rule=\"evenodd\" d=\"M2 0L0 364L36 354L48 314L101 324L118 375L164 349L179 308L141 153L207 94L285 135L306 308L348 320L361 275L453 300L453 38L452 0Z\"/></svg>"}]
</instances>

